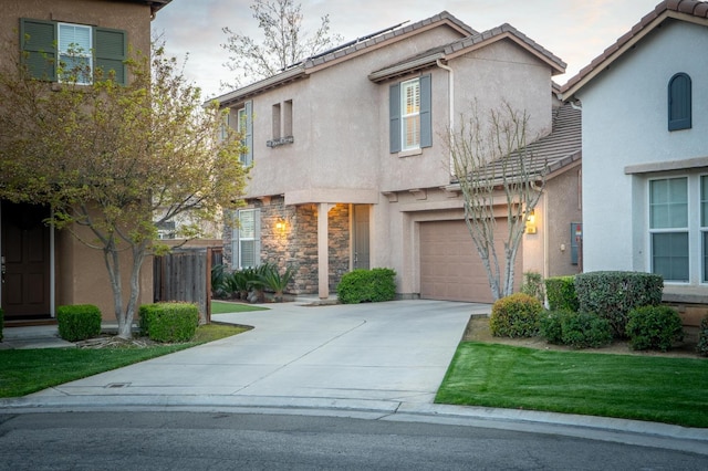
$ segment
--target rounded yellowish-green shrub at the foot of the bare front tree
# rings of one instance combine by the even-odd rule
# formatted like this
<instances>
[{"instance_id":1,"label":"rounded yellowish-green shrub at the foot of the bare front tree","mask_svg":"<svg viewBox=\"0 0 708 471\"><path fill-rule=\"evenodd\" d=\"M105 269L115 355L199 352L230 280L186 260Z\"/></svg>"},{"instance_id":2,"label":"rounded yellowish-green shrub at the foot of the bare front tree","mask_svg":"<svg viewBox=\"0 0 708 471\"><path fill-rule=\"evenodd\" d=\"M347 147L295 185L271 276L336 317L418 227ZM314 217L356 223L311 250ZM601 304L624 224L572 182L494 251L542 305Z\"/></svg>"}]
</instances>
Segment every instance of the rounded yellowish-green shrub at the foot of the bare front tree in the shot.
<instances>
[{"instance_id":1,"label":"rounded yellowish-green shrub at the foot of the bare front tree","mask_svg":"<svg viewBox=\"0 0 708 471\"><path fill-rule=\"evenodd\" d=\"M541 302L524 293L498 300L491 307L489 327L497 337L532 337L539 332Z\"/></svg>"}]
</instances>

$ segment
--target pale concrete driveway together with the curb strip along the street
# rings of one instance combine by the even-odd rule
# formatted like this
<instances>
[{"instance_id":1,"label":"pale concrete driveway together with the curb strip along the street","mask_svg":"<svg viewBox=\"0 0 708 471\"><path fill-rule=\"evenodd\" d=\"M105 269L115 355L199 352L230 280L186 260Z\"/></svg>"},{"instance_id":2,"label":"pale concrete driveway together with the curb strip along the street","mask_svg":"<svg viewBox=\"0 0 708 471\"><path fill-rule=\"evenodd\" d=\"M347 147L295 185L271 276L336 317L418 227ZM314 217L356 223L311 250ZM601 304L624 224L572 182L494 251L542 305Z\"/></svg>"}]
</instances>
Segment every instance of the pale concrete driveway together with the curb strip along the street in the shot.
<instances>
[{"instance_id":1,"label":"pale concrete driveway together with the curb strip along the street","mask_svg":"<svg viewBox=\"0 0 708 471\"><path fill-rule=\"evenodd\" d=\"M470 315L488 314L489 305L396 301L269 307L212 317L256 327L243 334L0 399L0 408L335 415L528 430L708 454L708 429L433 404Z\"/></svg>"}]
</instances>

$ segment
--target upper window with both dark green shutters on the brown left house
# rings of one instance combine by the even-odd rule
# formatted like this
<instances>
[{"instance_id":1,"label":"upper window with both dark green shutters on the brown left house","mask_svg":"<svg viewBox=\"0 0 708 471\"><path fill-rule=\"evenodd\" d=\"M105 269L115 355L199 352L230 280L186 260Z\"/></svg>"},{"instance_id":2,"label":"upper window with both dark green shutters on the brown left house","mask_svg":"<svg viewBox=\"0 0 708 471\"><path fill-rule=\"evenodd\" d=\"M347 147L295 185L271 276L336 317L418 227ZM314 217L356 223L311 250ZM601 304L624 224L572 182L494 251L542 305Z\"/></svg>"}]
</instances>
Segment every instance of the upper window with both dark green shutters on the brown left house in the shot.
<instances>
[{"instance_id":1,"label":"upper window with both dark green shutters on the brown left house","mask_svg":"<svg viewBox=\"0 0 708 471\"><path fill-rule=\"evenodd\" d=\"M87 84L98 72L126 83L125 31L22 18L20 34L22 57L34 78Z\"/></svg>"}]
</instances>

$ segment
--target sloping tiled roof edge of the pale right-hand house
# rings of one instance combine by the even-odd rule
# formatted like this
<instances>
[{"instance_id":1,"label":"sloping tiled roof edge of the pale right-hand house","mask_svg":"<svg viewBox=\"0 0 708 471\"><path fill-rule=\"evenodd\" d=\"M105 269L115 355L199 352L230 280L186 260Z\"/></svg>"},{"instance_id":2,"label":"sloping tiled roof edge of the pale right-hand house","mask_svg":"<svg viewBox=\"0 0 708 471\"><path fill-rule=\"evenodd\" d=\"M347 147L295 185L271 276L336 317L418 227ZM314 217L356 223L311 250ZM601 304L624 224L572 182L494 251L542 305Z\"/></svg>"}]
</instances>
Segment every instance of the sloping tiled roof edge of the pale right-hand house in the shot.
<instances>
[{"instance_id":1,"label":"sloping tiled roof edge of the pale right-hand house","mask_svg":"<svg viewBox=\"0 0 708 471\"><path fill-rule=\"evenodd\" d=\"M568 83L561 87L563 97L570 98L585 83L606 69L628 48L634 45L658 24L662 24L667 18L681 19L686 17L708 20L708 2L696 0L665 0L660 2L628 32L620 36L614 44L605 49L602 54L583 67L575 76L570 78Z\"/></svg>"}]
</instances>

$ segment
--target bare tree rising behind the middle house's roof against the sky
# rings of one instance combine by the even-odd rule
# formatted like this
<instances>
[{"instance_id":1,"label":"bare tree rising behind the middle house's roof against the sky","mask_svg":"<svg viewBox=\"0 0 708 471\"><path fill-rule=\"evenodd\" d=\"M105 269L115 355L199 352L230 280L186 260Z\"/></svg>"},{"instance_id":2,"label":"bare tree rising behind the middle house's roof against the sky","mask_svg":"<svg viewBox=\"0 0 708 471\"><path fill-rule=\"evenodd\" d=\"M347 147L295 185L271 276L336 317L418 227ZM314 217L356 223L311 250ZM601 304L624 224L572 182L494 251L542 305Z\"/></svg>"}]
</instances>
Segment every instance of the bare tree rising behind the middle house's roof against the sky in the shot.
<instances>
[{"instance_id":1,"label":"bare tree rising behind the middle house's roof against the sky","mask_svg":"<svg viewBox=\"0 0 708 471\"><path fill-rule=\"evenodd\" d=\"M251 10L263 41L258 44L252 38L222 28L228 38L221 48L229 54L223 65L235 72L232 82L221 84L225 87L238 87L241 80L273 76L342 41L341 35L331 35L329 14L321 17L320 28L314 33L303 32L302 4L295 4L293 0L254 0Z\"/></svg>"}]
</instances>

